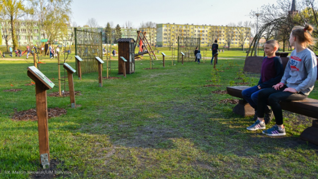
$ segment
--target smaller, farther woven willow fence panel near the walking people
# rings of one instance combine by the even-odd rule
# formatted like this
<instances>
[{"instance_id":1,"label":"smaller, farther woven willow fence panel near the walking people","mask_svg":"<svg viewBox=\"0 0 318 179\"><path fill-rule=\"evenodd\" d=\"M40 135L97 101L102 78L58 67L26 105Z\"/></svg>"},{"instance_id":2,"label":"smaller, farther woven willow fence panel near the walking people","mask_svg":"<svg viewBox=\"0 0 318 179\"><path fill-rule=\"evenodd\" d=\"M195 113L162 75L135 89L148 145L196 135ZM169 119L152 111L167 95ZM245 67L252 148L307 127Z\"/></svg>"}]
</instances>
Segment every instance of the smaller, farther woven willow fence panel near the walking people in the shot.
<instances>
[{"instance_id":1,"label":"smaller, farther woven willow fence panel near the walking people","mask_svg":"<svg viewBox=\"0 0 318 179\"><path fill-rule=\"evenodd\" d=\"M183 61L195 61L194 50L200 49L200 38L178 37L178 62L181 62L181 52L184 53Z\"/></svg>"}]
</instances>

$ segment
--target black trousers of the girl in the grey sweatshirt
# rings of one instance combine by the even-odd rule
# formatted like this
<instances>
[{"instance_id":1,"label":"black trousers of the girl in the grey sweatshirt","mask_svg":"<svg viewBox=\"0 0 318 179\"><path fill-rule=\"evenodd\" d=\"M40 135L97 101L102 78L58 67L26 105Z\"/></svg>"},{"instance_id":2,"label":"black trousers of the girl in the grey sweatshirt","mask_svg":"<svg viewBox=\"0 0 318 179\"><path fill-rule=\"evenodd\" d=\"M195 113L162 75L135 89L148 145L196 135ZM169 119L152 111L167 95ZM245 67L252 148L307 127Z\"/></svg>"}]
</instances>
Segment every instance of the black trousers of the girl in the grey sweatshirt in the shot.
<instances>
[{"instance_id":1,"label":"black trousers of the girl in the grey sweatshirt","mask_svg":"<svg viewBox=\"0 0 318 179\"><path fill-rule=\"evenodd\" d=\"M283 91L286 88L288 87L284 85L284 87L280 88L279 90L276 90L274 88L266 88L260 90L257 103L257 117L264 118L264 110L266 110L268 102L268 105L270 105L273 110L276 124L282 125L283 113L279 103L281 101L304 100L307 98L307 95L304 95L302 92L291 93Z\"/></svg>"}]
</instances>

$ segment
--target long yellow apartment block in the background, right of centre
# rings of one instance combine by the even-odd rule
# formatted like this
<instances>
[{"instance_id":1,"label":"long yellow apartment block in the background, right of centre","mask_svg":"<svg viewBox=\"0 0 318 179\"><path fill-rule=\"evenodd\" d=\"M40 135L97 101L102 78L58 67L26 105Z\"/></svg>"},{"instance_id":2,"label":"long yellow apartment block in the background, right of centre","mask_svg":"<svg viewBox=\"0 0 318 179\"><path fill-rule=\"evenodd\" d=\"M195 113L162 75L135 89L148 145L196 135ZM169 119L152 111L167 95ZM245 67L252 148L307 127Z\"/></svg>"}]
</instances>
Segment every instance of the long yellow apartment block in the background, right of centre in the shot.
<instances>
[{"instance_id":1,"label":"long yellow apartment block in the background, right of centre","mask_svg":"<svg viewBox=\"0 0 318 179\"><path fill-rule=\"evenodd\" d=\"M215 39L219 47L249 47L249 27L223 25L194 25L194 24L157 24L157 46L168 47L177 45L178 37L200 38L201 46L211 46Z\"/></svg>"}]
</instances>

